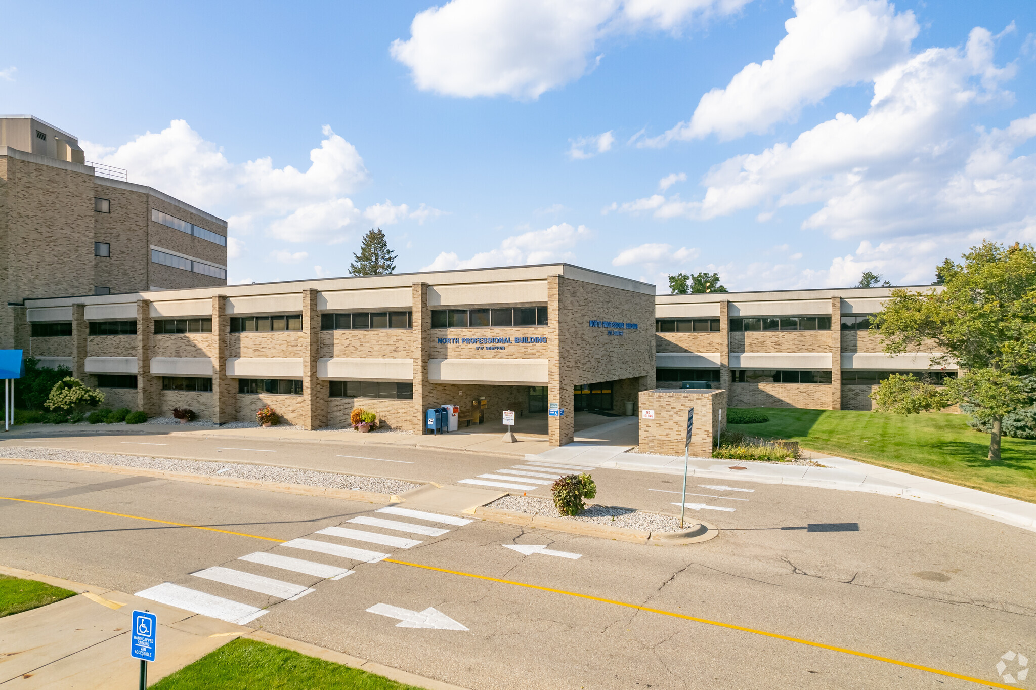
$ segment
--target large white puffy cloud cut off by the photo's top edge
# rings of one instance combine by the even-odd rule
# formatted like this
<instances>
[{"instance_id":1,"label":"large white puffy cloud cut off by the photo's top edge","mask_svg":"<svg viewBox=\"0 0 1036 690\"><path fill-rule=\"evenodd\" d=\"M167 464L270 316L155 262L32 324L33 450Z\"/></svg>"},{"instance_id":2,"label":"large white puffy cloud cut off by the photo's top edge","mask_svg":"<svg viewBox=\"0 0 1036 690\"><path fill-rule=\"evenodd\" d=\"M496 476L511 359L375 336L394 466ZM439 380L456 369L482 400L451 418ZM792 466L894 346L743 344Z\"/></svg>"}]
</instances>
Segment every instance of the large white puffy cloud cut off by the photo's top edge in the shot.
<instances>
[{"instance_id":1,"label":"large white puffy cloud cut off by the photo's top edge","mask_svg":"<svg viewBox=\"0 0 1036 690\"><path fill-rule=\"evenodd\" d=\"M600 40L640 30L679 31L749 0L451 0L413 18L392 56L423 91L535 99L593 68Z\"/></svg>"}]
</instances>

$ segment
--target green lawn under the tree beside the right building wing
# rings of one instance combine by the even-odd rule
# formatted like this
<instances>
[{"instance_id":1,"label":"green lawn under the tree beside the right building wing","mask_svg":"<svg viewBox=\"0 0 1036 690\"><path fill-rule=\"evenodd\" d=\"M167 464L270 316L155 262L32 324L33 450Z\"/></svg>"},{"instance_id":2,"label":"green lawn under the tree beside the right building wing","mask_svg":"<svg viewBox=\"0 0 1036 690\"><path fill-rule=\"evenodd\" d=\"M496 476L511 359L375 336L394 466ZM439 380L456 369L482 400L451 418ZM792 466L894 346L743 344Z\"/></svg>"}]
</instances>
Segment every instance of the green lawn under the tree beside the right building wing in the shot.
<instances>
[{"instance_id":1,"label":"green lawn under the tree beside the right building wing","mask_svg":"<svg viewBox=\"0 0 1036 690\"><path fill-rule=\"evenodd\" d=\"M762 424L731 431L797 440L804 449L1036 502L1036 440L1003 437L999 464L987 460L989 435L965 414L887 414L846 410L759 408Z\"/></svg>"}]
</instances>

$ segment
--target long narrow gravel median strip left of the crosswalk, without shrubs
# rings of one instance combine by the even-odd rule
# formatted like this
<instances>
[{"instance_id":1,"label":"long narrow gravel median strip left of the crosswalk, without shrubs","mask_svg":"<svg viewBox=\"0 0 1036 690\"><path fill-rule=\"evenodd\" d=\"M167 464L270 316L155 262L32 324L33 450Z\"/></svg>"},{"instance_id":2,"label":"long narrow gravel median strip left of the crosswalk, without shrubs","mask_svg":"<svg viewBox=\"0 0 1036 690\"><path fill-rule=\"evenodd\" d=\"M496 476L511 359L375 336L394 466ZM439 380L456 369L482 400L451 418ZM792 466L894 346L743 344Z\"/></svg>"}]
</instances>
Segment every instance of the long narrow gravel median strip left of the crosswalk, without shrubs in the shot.
<instances>
[{"instance_id":1,"label":"long narrow gravel median strip left of the crosswalk, without shrubs","mask_svg":"<svg viewBox=\"0 0 1036 690\"><path fill-rule=\"evenodd\" d=\"M0 448L0 458L89 462L97 465L142 467L164 471L188 472L191 475L205 475L207 477L232 477L234 479L258 480L261 482L303 484L305 486L322 486L330 489L352 489L354 491L373 491L375 493L388 494L401 493L422 486L421 484L403 482L401 480L320 472L312 469L248 465L235 462L208 462L205 460L173 460L171 458L138 457L134 455L94 453L92 451L66 451L64 449L35 447L7 445Z\"/></svg>"}]
</instances>

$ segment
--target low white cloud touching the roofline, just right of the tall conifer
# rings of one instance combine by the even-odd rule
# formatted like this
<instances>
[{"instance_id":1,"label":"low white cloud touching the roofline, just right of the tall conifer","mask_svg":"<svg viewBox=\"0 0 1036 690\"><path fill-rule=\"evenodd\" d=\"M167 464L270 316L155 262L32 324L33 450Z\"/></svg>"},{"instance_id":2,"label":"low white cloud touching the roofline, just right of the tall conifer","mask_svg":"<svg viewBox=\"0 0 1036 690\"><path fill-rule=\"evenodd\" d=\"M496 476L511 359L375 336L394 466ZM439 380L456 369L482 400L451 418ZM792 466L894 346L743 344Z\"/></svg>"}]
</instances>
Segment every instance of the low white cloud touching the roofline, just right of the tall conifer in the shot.
<instances>
[{"instance_id":1,"label":"low white cloud touching the roofline, just right of the tall conifer","mask_svg":"<svg viewBox=\"0 0 1036 690\"><path fill-rule=\"evenodd\" d=\"M577 228L568 223L552 225L543 230L530 230L507 237L496 249L461 259L456 252L441 252L422 270L451 270L455 268L486 268L488 266L516 266L521 264L571 261L574 254L568 250L589 239L593 232L584 225Z\"/></svg>"}]
</instances>

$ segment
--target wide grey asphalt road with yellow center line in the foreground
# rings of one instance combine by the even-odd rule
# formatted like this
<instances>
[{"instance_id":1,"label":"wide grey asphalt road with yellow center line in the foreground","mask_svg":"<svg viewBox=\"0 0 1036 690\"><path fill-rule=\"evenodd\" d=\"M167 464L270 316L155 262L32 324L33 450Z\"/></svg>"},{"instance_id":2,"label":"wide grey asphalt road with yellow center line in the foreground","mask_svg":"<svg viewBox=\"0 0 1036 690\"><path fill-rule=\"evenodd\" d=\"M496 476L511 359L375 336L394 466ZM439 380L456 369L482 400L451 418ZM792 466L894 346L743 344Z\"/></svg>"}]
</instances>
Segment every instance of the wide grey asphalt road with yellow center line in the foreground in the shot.
<instances>
[{"instance_id":1,"label":"wide grey asphalt road with yellow center line in the foreground","mask_svg":"<svg viewBox=\"0 0 1036 690\"><path fill-rule=\"evenodd\" d=\"M428 456L392 453L398 460ZM422 464L406 471L435 479L453 471L443 468L450 462L460 475L476 462L510 463L453 455L460 457L413 460ZM595 478L602 494L638 497L638 506L656 510L672 510L670 494L662 492L680 489L663 475L597 470ZM648 547L473 521L435 524L449 529L437 537L404 535L421 544L401 548L314 533L341 525L400 535L347 522L365 516L432 523L376 513L368 504L63 468L0 466L0 486L5 496L225 530L0 500L3 565L130 593L168 581L268 606L251 625L480 690L978 687L752 631L989 682L999 681L996 664L1009 650L1036 659L1036 535L906 500L740 483L730 486L754 491L699 488L728 497L714 505L737 509L710 513L722 531L693 546ZM357 564L276 541L296 538L390 558ZM505 544L581 557L524 555ZM240 559L255 552L354 572L329 580ZM285 601L192 575L213 566L314 592ZM367 612L377 604L434 607L468 630L397 627L396 619ZM1030 680L1014 687L1034 686Z\"/></svg>"}]
</instances>

